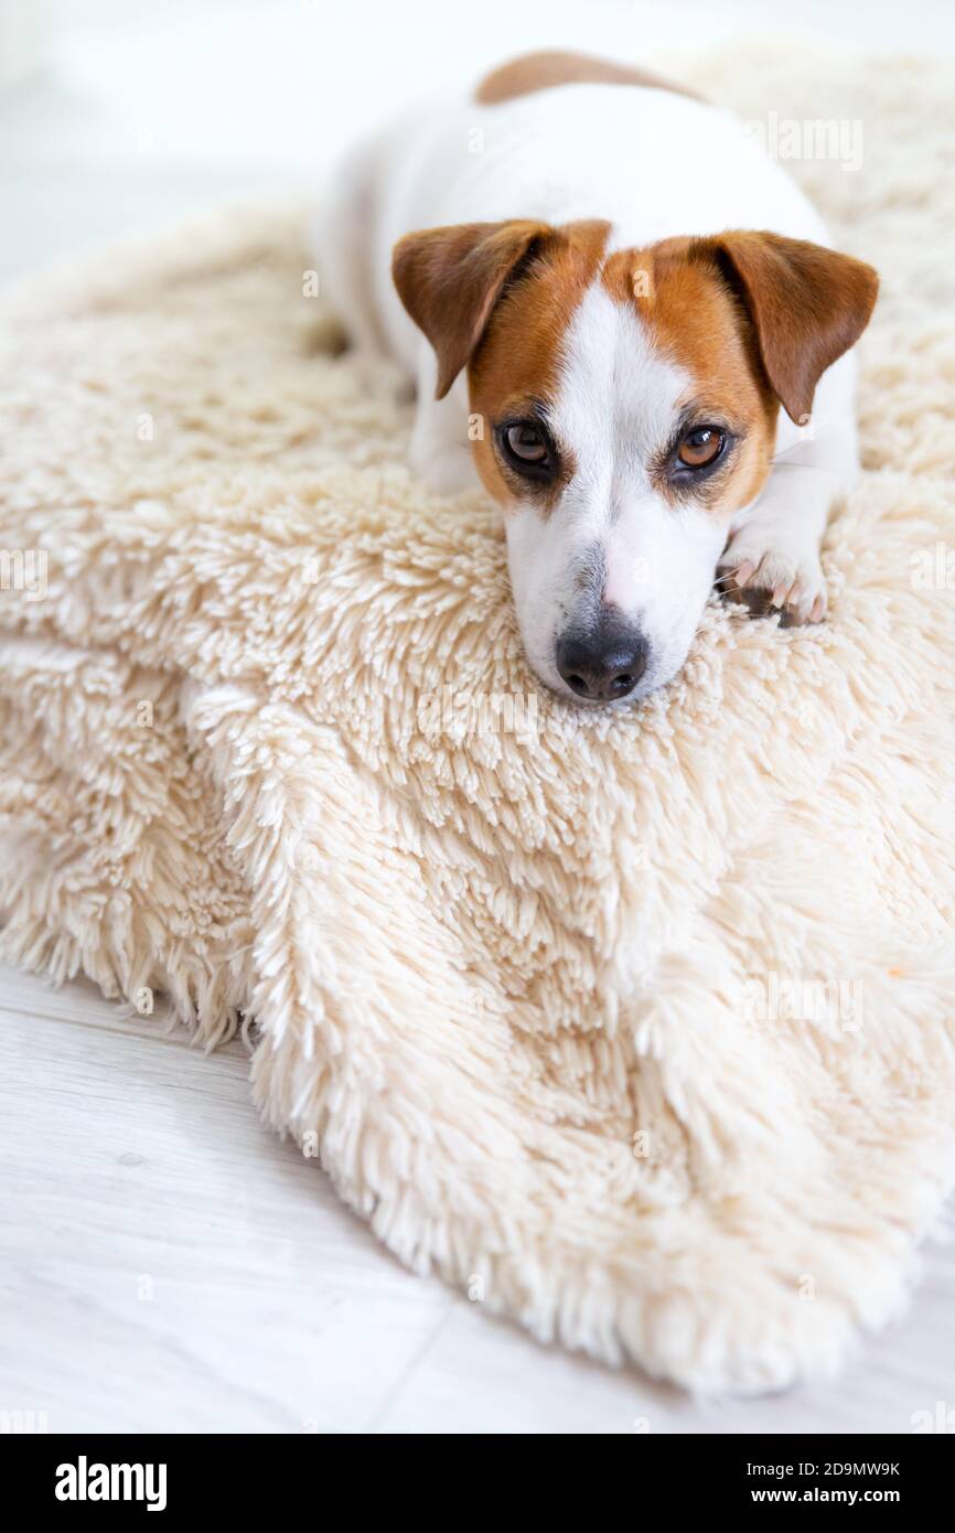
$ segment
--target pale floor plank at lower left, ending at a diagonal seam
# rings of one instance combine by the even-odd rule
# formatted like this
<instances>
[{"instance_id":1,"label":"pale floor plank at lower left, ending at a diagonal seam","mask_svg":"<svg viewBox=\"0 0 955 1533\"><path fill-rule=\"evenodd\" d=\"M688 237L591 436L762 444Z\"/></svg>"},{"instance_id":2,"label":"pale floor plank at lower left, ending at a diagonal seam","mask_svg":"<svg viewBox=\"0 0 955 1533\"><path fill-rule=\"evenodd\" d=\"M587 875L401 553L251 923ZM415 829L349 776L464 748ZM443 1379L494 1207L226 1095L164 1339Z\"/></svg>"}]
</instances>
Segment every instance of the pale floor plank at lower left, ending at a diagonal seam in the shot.
<instances>
[{"instance_id":1,"label":"pale floor plank at lower left, ending at a diagonal seam","mask_svg":"<svg viewBox=\"0 0 955 1533\"><path fill-rule=\"evenodd\" d=\"M0 1013L0 1398L54 1430L362 1429L451 1295L261 1127L241 1044L123 1036L101 1007Z\"/></svg>"}]
</instances>

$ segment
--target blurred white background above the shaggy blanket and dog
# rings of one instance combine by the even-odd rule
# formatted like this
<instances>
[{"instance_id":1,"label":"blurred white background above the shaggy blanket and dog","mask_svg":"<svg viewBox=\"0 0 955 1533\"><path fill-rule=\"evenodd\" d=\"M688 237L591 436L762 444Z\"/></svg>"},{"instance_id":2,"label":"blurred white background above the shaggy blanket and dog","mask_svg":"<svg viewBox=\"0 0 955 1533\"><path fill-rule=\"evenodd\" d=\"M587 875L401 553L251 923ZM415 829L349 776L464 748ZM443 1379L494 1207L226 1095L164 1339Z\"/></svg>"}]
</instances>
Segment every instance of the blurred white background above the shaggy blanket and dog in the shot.
<instances>
[{"instance_id":1,"label":"blurred white background above the shaggy blanket and dog","mask_svg":"<svg viewBox=\"0 0 955 1533\"><path fill-rule=\"evenodd\" d=\"M336 146L509 52L633 61L812 40L955 52L950 0L0 0L0 276L210 199L317 184Z\"/></svg>"}]
</instances>

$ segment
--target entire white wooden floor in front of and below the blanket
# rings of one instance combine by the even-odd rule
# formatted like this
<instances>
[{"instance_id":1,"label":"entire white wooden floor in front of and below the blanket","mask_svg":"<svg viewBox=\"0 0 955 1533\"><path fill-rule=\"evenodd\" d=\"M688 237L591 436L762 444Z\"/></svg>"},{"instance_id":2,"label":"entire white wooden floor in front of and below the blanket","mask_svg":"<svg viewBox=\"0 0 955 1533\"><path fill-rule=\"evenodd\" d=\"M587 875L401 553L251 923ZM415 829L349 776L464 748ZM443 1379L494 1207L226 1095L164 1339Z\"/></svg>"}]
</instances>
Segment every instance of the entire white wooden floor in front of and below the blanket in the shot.
<instances>
[{"instance_id":1,"label":"entire white wooden floor in front of and below the blanket","mask_svg":"<svg viewBox=\"0 0 955 1533\"><path fill-rule=\"evenodd\" d=\"M0 1409L51 1430L907 1432L955 1407L955 1254L832 1387L694 1404L405 1272L204 1056L0 970Z\"/></svg>"}]
</instances>

